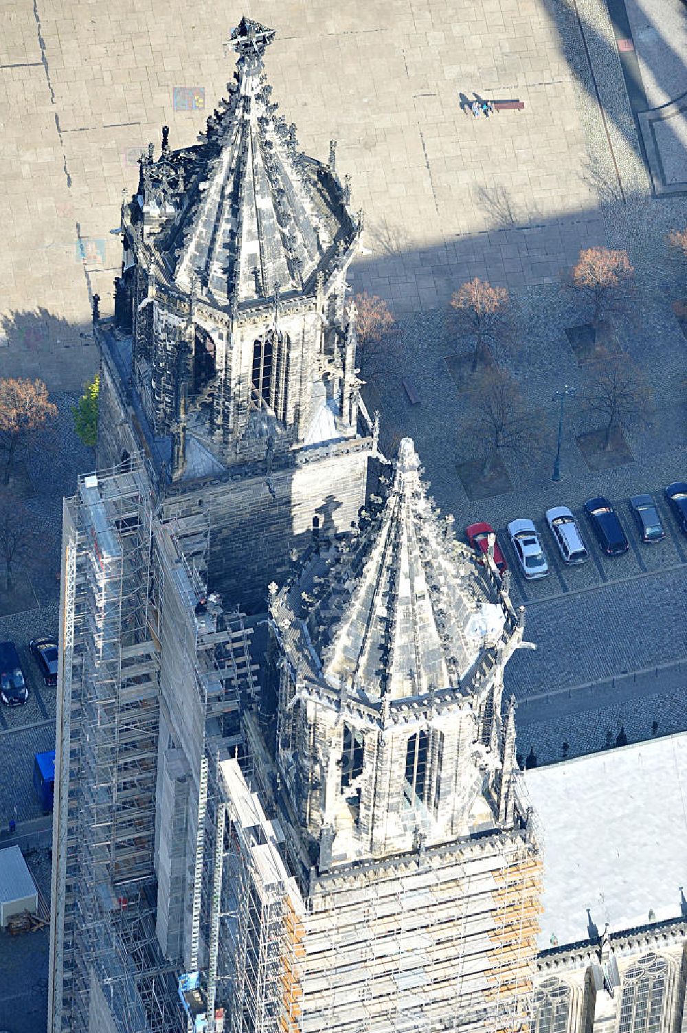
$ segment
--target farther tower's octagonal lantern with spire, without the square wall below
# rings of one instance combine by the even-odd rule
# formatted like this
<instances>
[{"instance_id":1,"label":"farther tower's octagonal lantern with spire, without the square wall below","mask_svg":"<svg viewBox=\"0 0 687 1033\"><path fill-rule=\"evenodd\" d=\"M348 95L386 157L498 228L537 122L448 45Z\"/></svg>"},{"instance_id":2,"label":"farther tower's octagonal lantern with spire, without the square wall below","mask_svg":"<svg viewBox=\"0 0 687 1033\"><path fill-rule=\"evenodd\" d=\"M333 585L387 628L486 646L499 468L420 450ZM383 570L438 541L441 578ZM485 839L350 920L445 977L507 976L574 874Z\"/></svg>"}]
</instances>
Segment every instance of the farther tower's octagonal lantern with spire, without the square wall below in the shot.
<instances>
[{"instance_id":1,"label":"farther tower's octagonal lantern with spire, without the square wall below","mask_svg":"<svg viewBox=\"0 0 687 1033\"><path fill-rule=\"evenodd\" d=\"M353 436L355 333L346 272L362 215L336 170L299 148L272 99L275 32L243 18L235 82L192 147L168 129L122 207L116 319L173 478L191 435L222 466Z\"/></svg>"}]
</instances>

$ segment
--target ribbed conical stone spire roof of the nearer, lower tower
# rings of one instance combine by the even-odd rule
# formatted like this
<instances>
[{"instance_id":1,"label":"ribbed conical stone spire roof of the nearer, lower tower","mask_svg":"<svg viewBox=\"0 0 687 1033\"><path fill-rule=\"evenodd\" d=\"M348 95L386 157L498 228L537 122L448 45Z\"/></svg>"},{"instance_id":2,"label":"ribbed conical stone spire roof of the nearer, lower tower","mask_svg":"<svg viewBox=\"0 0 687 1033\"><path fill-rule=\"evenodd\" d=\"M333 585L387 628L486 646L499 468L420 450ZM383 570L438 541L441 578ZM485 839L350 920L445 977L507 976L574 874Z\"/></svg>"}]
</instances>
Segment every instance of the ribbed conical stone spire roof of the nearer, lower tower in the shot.
<instances>
[{"instance_id":1,"label":"ribbed conical stone spire roof of the nearer, lower tower","mask_svg":"<svg viewBox=\"0 0 687 1033\"><path fill-rule=\"evenodd\" d=\"M428 498L410 438L378 514L309 564L272 612L296 665L370 701L459 688L502 636L506 616Z\"/></svg>"}]
</instances>

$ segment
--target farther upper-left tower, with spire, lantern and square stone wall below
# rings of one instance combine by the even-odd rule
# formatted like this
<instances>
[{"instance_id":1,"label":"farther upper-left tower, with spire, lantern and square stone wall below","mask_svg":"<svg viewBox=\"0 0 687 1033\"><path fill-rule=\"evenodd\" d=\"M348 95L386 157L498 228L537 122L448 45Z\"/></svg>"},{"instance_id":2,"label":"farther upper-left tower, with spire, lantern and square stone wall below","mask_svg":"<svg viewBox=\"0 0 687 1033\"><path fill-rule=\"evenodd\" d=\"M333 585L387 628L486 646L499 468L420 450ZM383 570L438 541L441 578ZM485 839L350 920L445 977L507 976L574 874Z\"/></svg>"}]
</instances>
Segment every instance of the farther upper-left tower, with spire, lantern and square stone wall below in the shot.
<instances>
[{"instance_id":1,"label":"farther upper-left tower, with spire, lantern and square stone wall below","mask_svg":"<svg viewBox=\"0 0 687 1033\"><path fill-rule=\"evenodd\" d=\"M335 143L327 164L307 157L272 101L273 37L242 19L199 143L171 151L163 127L142 158L115 320L97 327L99 466L148 453L165 511L210 512L213 588L258 607L313 528L349 530L376 453L346 296L362 215Z\"/></svg>"}]
</instances>

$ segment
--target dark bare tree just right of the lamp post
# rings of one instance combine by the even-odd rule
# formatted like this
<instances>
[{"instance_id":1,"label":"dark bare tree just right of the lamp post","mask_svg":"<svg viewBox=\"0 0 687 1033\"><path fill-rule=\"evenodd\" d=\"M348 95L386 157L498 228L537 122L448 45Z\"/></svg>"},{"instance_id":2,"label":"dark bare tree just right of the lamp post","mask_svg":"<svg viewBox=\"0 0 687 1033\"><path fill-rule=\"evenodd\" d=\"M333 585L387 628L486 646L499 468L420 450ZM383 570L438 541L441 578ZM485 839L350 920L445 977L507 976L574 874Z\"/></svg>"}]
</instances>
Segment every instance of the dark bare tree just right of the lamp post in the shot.
<instances>
[{"instance_id":1,"label":"dark bare tree just right of the lamp post","mask_svg":"<svg viewBox=\"0 0 687 1033\"><path fill-rule=\"evenodd\" d=\"M644 374L623 351L598 348L590 366L585 402L590 415L603 421L603 447L614 431L644 426L652 408L652 392Z\"/></svg>"}]
</instances>

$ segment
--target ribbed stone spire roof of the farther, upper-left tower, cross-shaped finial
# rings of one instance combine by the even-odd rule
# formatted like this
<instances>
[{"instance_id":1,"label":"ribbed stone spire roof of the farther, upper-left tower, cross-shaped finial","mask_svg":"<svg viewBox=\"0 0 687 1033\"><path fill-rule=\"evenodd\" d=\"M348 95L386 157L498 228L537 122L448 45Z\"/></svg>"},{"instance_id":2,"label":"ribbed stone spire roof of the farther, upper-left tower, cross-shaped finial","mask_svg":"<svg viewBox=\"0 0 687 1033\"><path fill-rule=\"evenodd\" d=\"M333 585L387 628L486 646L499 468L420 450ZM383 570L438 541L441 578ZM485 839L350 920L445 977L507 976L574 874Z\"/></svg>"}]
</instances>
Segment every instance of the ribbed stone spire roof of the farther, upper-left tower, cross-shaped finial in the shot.
<instances>
[{"instance_id":1,"label":"ribbed stone spire roof of the farther, upper-left tower, cross-shaped finial","mask_svg":"<svg viewBox=\"0 0 687 1033\"><path fill-rule=\"evenodd\" d=\"M314 285L317 271L350 246L357 229L334 150L329 165L303 155L295 126L271 100L262 57L274 35L246 18L232 31L237 82L193 149L184 177L192 178L188 199L162 243L177 285L195 285L220 305Z\"/></svg>"}]
</instances>

